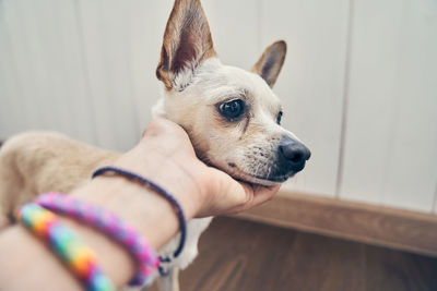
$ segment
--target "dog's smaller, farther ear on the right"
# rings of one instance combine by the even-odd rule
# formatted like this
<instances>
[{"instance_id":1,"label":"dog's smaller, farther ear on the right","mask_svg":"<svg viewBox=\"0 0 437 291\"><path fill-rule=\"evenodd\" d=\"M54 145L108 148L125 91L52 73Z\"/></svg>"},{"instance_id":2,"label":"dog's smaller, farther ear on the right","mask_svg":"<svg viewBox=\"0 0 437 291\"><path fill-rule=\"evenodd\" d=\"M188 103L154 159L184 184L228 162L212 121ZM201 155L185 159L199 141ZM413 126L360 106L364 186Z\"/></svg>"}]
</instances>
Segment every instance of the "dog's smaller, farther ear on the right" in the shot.
<instances>
[{"instance_id":1,"label":"dog's smaller, farther ear on the right","mask_svg":"<svg viewBox=\"0 0 437 291\"><path fill-rule=\"evenodd\" d=\"M259 74L270 87L273 87L284 64L285 54L286 43L284 40L273 43L262 52L251 71Z\"/></svg>"}]
</instances>

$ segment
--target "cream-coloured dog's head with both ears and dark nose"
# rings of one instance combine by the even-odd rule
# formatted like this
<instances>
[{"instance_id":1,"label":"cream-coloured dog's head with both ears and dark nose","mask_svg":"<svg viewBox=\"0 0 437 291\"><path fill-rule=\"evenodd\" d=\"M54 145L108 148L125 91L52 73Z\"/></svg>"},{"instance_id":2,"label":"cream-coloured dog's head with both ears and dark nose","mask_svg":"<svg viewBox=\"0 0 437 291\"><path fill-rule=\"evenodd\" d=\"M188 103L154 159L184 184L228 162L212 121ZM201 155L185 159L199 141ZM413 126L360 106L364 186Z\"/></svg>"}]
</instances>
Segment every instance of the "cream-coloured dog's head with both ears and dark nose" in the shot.
<instances>
[{"instance_id":1,"label":"cream-coloured dog's head with both ears and dark nose","mask_svg":"<svg viewBox=\"0 0 437 291\"><path fill-rule=\"evenodd\" d=\"M198 156L231 175L263 185L305 167L308 148L281 126L272 92L286 45L265 49L251 72L223 65L199 0L176 0L156 76L165 85L161 114L180 124Z\"/></svg>"}]
</instances>

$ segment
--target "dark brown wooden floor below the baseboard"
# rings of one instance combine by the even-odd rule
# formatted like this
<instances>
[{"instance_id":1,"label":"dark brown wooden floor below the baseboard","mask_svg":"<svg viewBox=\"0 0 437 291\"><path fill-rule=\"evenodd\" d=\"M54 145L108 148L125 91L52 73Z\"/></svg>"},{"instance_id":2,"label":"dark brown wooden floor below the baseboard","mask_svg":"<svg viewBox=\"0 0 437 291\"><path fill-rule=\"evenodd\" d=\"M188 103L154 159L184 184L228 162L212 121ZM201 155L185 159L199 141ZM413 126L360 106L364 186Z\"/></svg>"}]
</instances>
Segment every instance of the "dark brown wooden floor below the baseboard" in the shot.
<instances>
[{"instance_id":1,"label":"dark brown wooden floor below the baseboard","mask_svg":"<svg viewBox=\"0 0 437 291\"><path fill-rule=\"evenodd\" d=\"M214 219L199 250L181 291L437 290L437 258L233 218Z\"/></svg>"}]
</instances>

